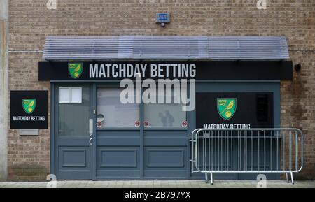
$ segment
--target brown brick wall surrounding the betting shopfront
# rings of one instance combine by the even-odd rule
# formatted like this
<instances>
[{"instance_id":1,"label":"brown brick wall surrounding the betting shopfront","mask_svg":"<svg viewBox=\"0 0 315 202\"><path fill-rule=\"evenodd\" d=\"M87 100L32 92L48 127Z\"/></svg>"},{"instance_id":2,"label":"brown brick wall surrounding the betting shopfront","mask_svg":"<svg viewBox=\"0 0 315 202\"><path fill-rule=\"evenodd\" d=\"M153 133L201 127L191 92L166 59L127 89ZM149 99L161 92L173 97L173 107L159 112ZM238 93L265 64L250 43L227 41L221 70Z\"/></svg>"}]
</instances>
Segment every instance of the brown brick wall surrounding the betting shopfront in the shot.
<instances>
[{"instance_id":1,"label":"brown brick wall surrounding the betting shopfront","mask_svg":"<svg viewBox=\"0 0 315 202\"><path fill-rule=\"evenodd\" d=\"M38 82L45 36L286 36L293 64L302 64L292 82L281 82L282 127L305 134L304 169L315 178L315 1L267 0L46 0L9 1L9 89L50 89ZM171 24L155 24L155 13L170 12ZM25 52L26 51L26 52ZM36 137L8 131L9 180L44 180L50 168L50 132Z\"/></svg>"}]
</instances>

